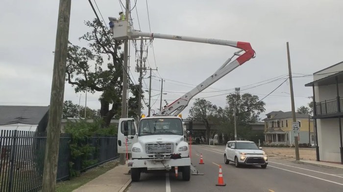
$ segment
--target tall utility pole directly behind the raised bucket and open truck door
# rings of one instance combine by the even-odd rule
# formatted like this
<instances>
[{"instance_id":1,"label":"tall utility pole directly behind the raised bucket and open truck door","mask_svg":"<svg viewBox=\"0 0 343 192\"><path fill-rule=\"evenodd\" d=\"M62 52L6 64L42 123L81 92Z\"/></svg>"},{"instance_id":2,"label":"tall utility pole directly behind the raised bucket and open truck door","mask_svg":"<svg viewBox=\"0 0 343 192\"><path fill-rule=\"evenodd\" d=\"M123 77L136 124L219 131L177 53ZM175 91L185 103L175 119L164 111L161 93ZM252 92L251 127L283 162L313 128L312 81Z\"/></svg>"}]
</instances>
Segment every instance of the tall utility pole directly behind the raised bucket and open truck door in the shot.
<instances>
[{"instance_id":1,"label":"tall utility pole directly behind the raised bucket and open truck door","mask_svg":"<svg viewBox=\"0 0 343 192\"><path fill-rule=\"evenodd\" d=\"M126 0L126 8L125 8L125 19L128 21L129 18L129 0ZM127 57L128 57L128 43L127 39L124 40L124 64L123 64L123 94L122 94L122 118L126 118L126 111L127 111ZM120 153L120 164L125 165L125 154Z\"/></svg>"}]
</instances>

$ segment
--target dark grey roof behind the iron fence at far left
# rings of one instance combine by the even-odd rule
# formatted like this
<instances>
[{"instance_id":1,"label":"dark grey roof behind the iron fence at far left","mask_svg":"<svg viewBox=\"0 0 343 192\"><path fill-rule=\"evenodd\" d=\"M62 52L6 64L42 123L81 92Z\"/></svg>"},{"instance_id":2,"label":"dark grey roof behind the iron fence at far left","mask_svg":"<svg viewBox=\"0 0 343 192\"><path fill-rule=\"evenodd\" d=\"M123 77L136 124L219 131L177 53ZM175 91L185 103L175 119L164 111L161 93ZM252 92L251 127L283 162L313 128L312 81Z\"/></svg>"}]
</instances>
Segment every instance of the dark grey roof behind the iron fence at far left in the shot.
<instances>
[{"instance_id":1,"label":"dark grey roof behind the iron fence at far left","mask_svg":"<svg viewBox=\"0 0 343 192\"><path fill-rule=\"evenodd\" d=\"M38 125L49 111L49 106L0 106L0 125Z\"/></svg>"}]
</instances>

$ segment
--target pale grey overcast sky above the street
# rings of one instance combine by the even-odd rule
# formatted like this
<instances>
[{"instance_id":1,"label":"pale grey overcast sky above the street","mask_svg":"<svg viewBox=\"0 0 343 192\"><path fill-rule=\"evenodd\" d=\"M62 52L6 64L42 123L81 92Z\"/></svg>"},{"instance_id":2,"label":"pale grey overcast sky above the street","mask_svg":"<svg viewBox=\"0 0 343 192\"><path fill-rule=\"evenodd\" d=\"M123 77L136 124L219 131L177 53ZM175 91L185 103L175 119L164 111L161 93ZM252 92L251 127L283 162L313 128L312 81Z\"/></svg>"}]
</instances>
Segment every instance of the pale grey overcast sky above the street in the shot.
<instances>
[{"instance_id":1,"label":"pale grey overcast sky above the street","mask_svg":"<svg viewBox=\"0 0 343 192\"><path fill-rule=\"evenodd\" d=\"M94 0L92 2L94 4ZM118 17L122 10L119 0L96 2L107 25L107 18ZM134 4L131 0L131 7ZM0 105L49 105L58 5L58 0L1 1ZM225 96L235 87L242 87L241 93L249 92L262 99L285 81L262 82L288 74L286 42L290 43L294 76L313 74L342 62L342 7L342 0L147 0L147 4L146 0L137 0L138 16L136 8L131 16L134 28L141 28L144 32L151 28L155 33L251 43L257 54L255 59L239 66L195 97L206 97L213 104L224 107ZM88 1L72 0L69 41L87 46L78 38L89 31L84 21L94 18ZM132 73L131 79L138 82L138 73L134 70L135 48L132 43L130 46L130 75ZM167 95L163 95L163 99L172 103L212 75L233 52L238 51L221 45L162 39L155 39L153 46L154 54L152 48L148 48L147 66L158 67L158 72L152 74L151 83L151 95L156 95L151 99L155 111L160 106L161 78L166 80L163 92ZM312 88L304 84L312 81L312 76L294 78L296 108L311 101L307 97L312 96ZM264 83L268 84L261 85ZM148 85L149 81L145 79L143 90L147 90ZM289 92L287 81L265 98L266 112L261 118L273 110L290 111ZM99 95L89 93L87 107L100 108ZM148 98L148 94L145 95ZM66 83L64 100L78 104L79 98L80 93L76 94ZM84 105L85 93L81 93L80 101ZM183 117L187 117L193 101L182 112ZM147 107L143 112L147 114Z\"/></svg>"}]
</instances>

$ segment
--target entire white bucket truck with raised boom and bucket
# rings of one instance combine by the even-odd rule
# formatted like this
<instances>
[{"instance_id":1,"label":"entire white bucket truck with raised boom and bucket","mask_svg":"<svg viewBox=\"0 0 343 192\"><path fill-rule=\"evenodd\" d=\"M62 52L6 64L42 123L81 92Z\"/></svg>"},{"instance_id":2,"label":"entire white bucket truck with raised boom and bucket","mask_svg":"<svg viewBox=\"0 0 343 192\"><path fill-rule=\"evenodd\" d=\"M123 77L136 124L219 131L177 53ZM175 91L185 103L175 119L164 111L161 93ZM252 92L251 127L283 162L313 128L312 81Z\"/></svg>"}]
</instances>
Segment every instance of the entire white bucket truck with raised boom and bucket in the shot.
<instances>
[{"instance_id":1,"label":"entire white bucket truck with raised boom and bucket","mask_svg":"<svg viewBox=\"0 0 343 192\"><path fill-rule=\"evenodd\" d=\"M186 131L177 115L187 107L190 100L223 76L255 57L250 43L218 39L206 39L134 30L127 20L110 18L110 30L116 40L132 40L140 37L169 39L196 43L209 43L236 47L240 50L228 58L219 69L191 91L157 112L152 117L142 118L137 128L133 118L121 118L118 126L118 152L131 153L127 165L131 168L132 181L139 181L142 172L157 170L182 172L182 179L191 177L191 158ZM231 60L237 56L235 60Z\"/></svg>"}]
</instances>

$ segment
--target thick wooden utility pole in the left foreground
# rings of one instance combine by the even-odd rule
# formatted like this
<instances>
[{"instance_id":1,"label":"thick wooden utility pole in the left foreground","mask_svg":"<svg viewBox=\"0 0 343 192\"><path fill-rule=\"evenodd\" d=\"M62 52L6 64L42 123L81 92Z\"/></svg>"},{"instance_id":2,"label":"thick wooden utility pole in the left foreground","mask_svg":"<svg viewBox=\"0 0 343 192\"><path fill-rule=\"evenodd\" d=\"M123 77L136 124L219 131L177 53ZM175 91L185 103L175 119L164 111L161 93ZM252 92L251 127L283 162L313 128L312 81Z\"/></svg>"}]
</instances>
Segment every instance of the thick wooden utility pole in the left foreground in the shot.
<instances>
[{"instance_id":1,"label":"thick wooden utility pole in the left foreground","mask_svg":"<svg viewBox=\"0 0 343 192\"><path fill-rule=\"evenodd\" d=\"M55 192L68 52L71 0L60 0L43 171L43 192Z\"/></svg>"}]
</instances>

